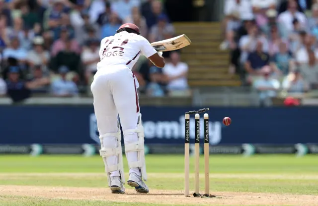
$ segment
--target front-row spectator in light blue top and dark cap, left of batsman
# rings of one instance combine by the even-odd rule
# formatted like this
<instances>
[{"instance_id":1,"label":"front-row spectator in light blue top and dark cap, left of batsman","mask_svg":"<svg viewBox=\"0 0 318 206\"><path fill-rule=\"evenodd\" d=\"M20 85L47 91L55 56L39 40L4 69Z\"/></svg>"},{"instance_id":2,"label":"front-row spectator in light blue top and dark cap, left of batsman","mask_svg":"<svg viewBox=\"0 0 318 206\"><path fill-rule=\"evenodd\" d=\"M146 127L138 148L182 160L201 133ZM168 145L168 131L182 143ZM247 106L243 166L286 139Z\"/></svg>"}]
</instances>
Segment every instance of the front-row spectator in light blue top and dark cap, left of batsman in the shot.
<instances>
[{"instance_id":1,"label":"front-row spectator in light blue top and dark cap, left of batsman","mask_svg":"<svg viewBox=\"0 0 318 206\"><path fill-rule=\"evenodd\" d=\"M61 66L59 69L61 79L56 79L52 83L52 94L56 97L74 97L79 91L78 87L73 81L67 79L69 69L67 66Z\"/></svg>"}]
</instances>

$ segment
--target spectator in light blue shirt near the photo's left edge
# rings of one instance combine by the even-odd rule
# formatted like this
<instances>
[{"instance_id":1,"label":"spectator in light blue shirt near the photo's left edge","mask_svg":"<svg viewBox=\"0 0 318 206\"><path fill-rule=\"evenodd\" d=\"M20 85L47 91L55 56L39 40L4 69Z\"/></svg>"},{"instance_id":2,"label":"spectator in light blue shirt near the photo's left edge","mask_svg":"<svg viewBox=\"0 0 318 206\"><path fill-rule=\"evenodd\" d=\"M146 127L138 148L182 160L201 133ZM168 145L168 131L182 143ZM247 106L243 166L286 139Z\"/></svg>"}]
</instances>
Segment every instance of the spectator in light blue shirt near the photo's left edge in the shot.
<instances>
[{"instance_id":1,"label":"spectator in light blue shirt near the photo's left edge","mask_svg":"<svg viewBox=\"0 0 318 206\"><path fill-rule=\"evenodd\" d=\"M20 47L20 41L17 37L13 37L10 42L10 46L3 50L3 58L13 57L24 63L26 60L27 52Z\"/></svg>"}]
</instances>

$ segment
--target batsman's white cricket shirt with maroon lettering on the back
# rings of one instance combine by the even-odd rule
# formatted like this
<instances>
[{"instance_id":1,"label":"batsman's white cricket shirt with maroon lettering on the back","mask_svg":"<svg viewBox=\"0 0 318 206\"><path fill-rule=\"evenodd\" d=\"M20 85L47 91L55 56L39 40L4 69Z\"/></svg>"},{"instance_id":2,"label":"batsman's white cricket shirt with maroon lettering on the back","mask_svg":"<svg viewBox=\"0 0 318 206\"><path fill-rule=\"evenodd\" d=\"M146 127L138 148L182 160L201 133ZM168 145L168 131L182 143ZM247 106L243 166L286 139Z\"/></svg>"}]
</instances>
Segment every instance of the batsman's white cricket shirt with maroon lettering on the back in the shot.
<instances>
[{"instance_id":1,"label":"batsman's white cricket shirt with maroon lettering on the back","mask_svg":"<svg viewBox=\"0 0 318 206\"><path fill-rule=\"evenodd\" d=\"M131 69L141 53L148 58L156 52L143 36L123 31L102 39L97 70L109 65L123 65Z\"/></svg>"}]
</instances>

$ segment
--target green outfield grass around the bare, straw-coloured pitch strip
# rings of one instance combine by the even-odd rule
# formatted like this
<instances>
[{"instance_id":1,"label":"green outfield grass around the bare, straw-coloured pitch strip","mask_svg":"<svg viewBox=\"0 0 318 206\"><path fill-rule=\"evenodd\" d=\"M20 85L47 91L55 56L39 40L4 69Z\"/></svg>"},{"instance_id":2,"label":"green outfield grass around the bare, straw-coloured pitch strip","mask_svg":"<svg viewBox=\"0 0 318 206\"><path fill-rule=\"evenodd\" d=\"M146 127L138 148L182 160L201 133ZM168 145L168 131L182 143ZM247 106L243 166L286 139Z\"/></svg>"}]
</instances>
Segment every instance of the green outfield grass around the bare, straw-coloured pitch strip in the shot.
<instances>
[{"instance_id":1,"label":"green outfield grass around the bare, straw-coloured pitch strip","mask_svg":"<svg viewBox=\"0 0 318 206\"><path fill-rule=\"evenodd\" d=\"M193 160L191 158L191 173L194 170ZM147 183L150 189L178 191L178 194L182 195L182 190L184 189L183 155L147 155L146 161L149 174ZM125 168L127 168L126 160L124 162ZM202 173L204 172L203 162L203 157L201 157L200 170ZM211 191L216 193L318 195L317 171L317 155L304 157L295 157L294 155L210 156L210 185ZM128 172L128 169L126 169L126 172ZM190 178L192 188L193 179ZM2 155L0 156L0 187L12 185L105 188L106 190L107 178L100 156L42 155L33 157ZM204 190L203 174L200 176L200 189ZM0 193L0 206L31 206L35 202L37 203L36 206L163 206L158 202L138 203L138 200L136 203L124 203L116 201L60 200L50 197L45 199L45 197L12 195L1 196ZM251 204L247 205L251 206ZM191 203L180 205L191 205ZM202 202L202 205L210 204ZM226 204L222 203L221 205L225 206ZM270 204L258 204L258 206L265 205Z\"/></svg>"}]
</instances>

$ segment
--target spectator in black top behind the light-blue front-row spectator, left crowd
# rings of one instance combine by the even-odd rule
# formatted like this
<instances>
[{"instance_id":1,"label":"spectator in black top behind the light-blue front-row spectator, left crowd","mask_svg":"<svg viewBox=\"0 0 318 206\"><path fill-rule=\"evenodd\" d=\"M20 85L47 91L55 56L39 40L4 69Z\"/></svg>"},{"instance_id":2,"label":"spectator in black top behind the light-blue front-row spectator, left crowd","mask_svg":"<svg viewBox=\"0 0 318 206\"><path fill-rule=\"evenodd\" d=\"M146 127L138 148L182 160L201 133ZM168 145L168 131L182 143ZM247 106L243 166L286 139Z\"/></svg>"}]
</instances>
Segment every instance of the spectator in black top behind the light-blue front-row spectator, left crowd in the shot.
<instances>
[{"instance_id":1,"label":"spectator in black top behind the light-blue front-row spectator, left crowd","mask_svg":"<svg viewBox=\"0 0 318 206\"><path fill-rule=\"evenodd\" d=\"M68 70L79 73L80 56L75 51L72 51L72 41L65 42L65 48L59 51L58 54L52 59L52 70L57 72L61 66L66 66Z\"/></svg>"}]
</instances>

